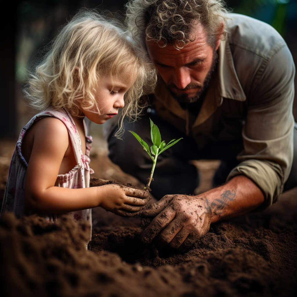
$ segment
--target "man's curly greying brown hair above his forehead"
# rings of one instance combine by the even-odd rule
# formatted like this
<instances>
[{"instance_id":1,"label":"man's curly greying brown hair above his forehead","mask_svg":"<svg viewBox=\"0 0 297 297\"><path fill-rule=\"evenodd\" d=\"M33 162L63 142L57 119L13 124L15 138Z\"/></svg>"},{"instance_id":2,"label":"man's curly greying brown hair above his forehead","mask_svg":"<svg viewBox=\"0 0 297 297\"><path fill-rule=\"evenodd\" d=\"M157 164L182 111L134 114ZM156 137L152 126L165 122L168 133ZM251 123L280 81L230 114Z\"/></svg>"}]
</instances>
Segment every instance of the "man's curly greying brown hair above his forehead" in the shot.
<instances>
[{"instance_id":1,"label":"man's curly greying brown hair above his forehead","mask_svg":"<svg viewBox=\"0 0 297 297\"><path fill-rule=\"evenodd\" d=\"M208 44L215 47L217 36L227 35L227 10L222 0L131 0L126 24L132 37L145 48L145 40L159 46L180 49L195 40L194 26L201 23ZM222 27L223 25L223 27Z\"/></svg>"}]
</instances>

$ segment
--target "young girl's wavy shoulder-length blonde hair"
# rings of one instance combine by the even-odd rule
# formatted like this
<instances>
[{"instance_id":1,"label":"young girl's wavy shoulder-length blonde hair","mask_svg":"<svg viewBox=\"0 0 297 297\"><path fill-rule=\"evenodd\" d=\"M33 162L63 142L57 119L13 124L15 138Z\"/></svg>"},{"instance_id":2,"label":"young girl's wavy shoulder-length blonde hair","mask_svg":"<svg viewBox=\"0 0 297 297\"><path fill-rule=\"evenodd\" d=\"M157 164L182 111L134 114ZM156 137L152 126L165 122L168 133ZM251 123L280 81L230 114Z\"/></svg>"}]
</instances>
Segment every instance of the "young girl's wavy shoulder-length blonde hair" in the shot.
<instances>
[{"instance_id":1,"label":"young girl's wavy shoulder-length blonde hair","mask_svg":"<svg viewBox=\"0 0 297 297\"><path fill-rule=\"evenodd\" d=\"M134 81L123 108L129 119L138 117L143 108L138 99L155 86L157 78L153 64L120 23L83 9L58 33L23 91L36 110L63 107L77 116L80 108L97 106L96 87L102 76Z\"/></svg>"}]
</instances>

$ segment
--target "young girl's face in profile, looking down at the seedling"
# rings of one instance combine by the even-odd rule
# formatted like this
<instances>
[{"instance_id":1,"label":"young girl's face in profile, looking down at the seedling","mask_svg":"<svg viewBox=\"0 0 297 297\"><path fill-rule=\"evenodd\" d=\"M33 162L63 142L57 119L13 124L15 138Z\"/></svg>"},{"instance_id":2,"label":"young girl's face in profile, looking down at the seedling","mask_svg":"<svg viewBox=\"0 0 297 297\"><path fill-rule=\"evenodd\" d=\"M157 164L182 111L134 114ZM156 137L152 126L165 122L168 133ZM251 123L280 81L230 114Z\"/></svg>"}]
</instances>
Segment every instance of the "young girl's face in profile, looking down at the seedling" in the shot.
<instances>
[{"instance_id":1,"label":"young girl's face in profile, looking down at the seedling","mask_svg":"<svg viewBox=\"0 0 297 297\"><path fill-rule=\"evenodd\" d=\"M94 106L90 110L81 109L83 114L96 124L103 124L111 119L124 107L124 94L132 86L133 82L123 77L114 78L101 77L96 90L96 102L99 112Z\"/></svg>"}]
</instances>

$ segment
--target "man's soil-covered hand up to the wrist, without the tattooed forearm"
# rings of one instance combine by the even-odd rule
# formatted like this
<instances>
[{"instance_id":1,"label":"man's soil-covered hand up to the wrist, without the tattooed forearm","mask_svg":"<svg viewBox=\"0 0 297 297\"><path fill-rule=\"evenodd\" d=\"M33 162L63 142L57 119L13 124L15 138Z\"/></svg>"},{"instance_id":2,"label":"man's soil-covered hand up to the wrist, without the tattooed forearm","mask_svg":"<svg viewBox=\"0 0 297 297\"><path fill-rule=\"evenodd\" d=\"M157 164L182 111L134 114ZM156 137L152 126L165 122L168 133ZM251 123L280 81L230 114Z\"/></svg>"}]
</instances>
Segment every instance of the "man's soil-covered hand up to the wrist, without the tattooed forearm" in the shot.
<instances>
[{"instance_id":1,"label":"man's soil-covered hand up to the wrist, without the tattooed forearm","mask_svg":"<svg viewBox=\"0 0 297 297\"><path fill-rule=\"evenodd\" d=\"M166 246L186 250L208 232L211 223L210 208L201 195L166 195L141 211L140 216L156 216L143 231L142 239L150 243L155 238L158 249Z\"/></svg>"}]
</instances>

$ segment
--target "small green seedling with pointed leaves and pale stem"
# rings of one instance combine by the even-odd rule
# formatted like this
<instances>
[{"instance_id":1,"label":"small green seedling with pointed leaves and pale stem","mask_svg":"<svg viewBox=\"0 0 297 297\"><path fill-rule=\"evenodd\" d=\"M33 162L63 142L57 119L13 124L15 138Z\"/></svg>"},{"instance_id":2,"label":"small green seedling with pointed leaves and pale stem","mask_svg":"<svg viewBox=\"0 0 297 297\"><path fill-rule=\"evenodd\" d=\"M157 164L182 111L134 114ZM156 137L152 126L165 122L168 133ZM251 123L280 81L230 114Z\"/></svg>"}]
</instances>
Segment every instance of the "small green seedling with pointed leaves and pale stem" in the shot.
<instances>
[{"instance_id":1,"label":"small green seedling with pointed leaves and pale stem","mask_svg":"<svg viewBox=\"0 0 297 297\"><path fill-rule=\"evenodd\" d=\"M154 170L156 167L157 158L158 158L159 154L161 154L163 151L170 148L170 146L173 146L179 140L182 139L182 138L179 138L178 140L173 139L173 140L170 140L166 144L164 140L161 141L161 135L160 135L160 131L159 131L159 128L157 127L157 125L155 125L151 119L150 119L150 121L151 121L151 141L153 142L153 145L151 146L151 151L149 149L148 144L144 140L142 140L139 135L137 135L133 131L129 131L140 142L140 144L143 146L143 149L149 154L149 156L153 160L153 168L151 170L151 175L148 178L148 183L147 183L146 187L144 187L144 189L147 189L147 190L150 190L149 186L151 184L151 181L153 180L153 174L154 174ZM153 157L152 155L154 155L155 157Z\"/></svg>"}]
</instances>

